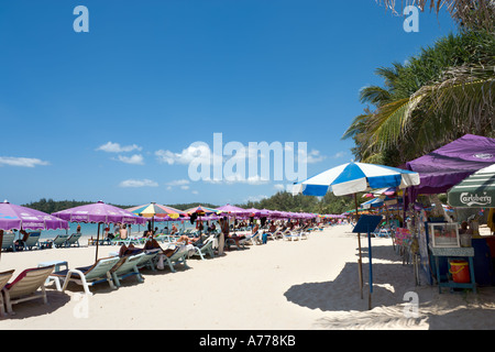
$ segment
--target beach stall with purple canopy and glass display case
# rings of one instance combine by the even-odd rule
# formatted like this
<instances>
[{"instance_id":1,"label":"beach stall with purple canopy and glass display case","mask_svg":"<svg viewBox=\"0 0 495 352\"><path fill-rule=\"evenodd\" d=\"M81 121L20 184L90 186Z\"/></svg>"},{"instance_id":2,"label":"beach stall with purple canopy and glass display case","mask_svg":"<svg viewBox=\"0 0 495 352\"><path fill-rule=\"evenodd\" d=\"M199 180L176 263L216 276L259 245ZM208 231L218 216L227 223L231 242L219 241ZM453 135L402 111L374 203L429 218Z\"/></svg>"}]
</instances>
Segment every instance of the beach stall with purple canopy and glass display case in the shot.
<instances>
[{"instance_id":1,"label":"beach stall with purple canopy and glass display case","mask_svg":"<svg viewBox=\"0 0 495 352\"><path fill-rule=\"evenodd\" d=\"M475 172L494 163L495 139L465 134L431 153L406 163L407 169L418 172L420 175L420 184L409 189L407 201L414 202L419 195L433 196L448 193L450 188ZM477 207L486 206L477 205ZM437 208L440 208L440 205ZM453 222L452 217L442 209L444 208L439 209L442 212L440 218L428 217L425 210L416 212L414 217L413 231L418 240L421 270L426 273L430 285L435 279L442 286L455 286L454 284L461 283L452 283L452 273L457 272L457 265L451 260L462 260L469 263L469 267L466 265L462 267L463 272L471 272L474 266L474 272L470 273L470 282L462 283L473 288L471 280L477 274L475 267L484 256L483 252L474 251L472 246L461 246L460 232L464 229L460 229L459 223ZM485 251L486 249L484 250L486 254ZM451 263L454 265L452 266ZM484 275L480 274L480 278L482 276Z\"/></svg>"}]
</instances>

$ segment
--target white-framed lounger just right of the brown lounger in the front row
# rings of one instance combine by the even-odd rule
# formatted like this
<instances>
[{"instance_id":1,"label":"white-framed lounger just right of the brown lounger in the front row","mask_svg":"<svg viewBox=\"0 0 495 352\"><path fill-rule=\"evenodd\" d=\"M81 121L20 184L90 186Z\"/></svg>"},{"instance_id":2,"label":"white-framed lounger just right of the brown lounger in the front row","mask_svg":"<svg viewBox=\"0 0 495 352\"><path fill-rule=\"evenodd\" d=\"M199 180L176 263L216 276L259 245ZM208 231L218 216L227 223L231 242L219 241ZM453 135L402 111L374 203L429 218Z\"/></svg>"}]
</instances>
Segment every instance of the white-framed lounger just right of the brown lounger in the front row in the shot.
<instances>
[{"instance_id":1,"label":"white-framed lounger just right of the brown lounger in the front row","mask_svg":"<svg viewBox=\"0 0 495 352\"><path fill-rule=\"evenodd\" d=\"M77 267L53 273L51 279L63 279L62 290L67 288L69 282L81 285L87 295L92 295L89 286L100 283L109 283L111 288L116 288L110 271L119 262L120 257L105 257L98 260L95 264L85 267Z\"/></svg>"}]
</instances>

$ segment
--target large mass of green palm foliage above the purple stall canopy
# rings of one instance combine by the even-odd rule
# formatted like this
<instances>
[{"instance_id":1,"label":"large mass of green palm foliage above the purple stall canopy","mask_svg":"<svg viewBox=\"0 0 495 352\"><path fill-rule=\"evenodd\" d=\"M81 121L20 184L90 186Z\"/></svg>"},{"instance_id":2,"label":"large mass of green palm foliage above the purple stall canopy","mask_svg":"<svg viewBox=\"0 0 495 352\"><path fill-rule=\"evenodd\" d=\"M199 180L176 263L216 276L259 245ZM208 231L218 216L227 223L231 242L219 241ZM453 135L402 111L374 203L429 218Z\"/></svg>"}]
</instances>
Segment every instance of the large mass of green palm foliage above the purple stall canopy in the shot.
<instances>
[{"instance_id":1,"label":"large mass of green palm foliage above the purple stall canopy","mask_svg":"<svg viewBox=\"0 0 495 352\"><path fill-rule=\"evenodd\" d=\"M407 64L378 68L384 87L361 90L366 108L343 139L356 157L397 166L465 133L495 130L495 40L462 31L425 48Z\"/></svg>"}]
</instances>

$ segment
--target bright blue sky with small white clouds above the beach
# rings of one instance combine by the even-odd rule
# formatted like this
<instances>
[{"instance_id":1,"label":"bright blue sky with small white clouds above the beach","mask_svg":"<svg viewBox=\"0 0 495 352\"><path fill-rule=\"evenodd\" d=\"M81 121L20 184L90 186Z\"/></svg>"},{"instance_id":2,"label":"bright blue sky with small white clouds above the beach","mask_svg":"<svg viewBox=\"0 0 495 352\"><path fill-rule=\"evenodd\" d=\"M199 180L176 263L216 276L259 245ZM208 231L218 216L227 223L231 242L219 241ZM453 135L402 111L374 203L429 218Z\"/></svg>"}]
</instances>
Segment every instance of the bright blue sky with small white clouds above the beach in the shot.
<instances>
[{"instance_id":1,"label":"bright blue sky with small white clouds above the beach","mask_svg":"<svg viewBox=\"0 0 495 352\"><path fill-rule=\"evenodd\" d=\"M455 30L444 11L403 22L373 0L2 1L0 198L270 197L292 180L193 180L189 146L306 142L308 176L351 161L374 70Z\"/></svg>"}]
</instances>

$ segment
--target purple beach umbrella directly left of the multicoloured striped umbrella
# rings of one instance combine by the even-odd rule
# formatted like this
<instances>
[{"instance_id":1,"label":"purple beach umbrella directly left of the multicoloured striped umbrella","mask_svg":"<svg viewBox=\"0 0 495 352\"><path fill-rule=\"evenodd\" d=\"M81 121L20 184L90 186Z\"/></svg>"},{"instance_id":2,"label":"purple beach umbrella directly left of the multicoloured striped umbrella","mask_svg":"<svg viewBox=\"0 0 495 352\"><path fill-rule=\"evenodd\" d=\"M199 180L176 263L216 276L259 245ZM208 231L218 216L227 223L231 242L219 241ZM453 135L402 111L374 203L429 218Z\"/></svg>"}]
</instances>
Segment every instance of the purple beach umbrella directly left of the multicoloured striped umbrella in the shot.
<instances>
[{"instance_id":1,"label":"purple beach umbrella directly left of the multicoloured striped umbrella","mask_svg":"<svg viewBox=\"0 0 495 352\"><path fill-rule=\"evenodd\" d=\"M146 219L139 217L128 210L106 205L98 201L92 205L86 205L65 209L53 213L54 216L72 222L103 222L103 223L131 223L145 224Z\"/></svg>"}]
</instances>

